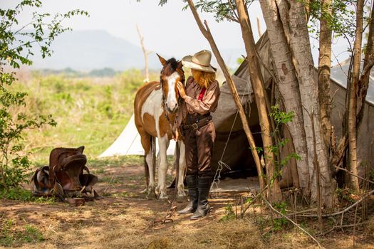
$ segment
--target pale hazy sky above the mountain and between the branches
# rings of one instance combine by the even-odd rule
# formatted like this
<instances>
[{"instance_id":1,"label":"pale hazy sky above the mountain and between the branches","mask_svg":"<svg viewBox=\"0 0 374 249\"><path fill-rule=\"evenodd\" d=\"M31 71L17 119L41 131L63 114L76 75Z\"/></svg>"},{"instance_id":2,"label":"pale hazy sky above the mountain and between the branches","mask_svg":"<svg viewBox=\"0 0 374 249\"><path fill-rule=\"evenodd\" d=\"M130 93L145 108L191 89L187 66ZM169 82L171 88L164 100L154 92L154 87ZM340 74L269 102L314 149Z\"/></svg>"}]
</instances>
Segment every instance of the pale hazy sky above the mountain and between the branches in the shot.
<instances>
[{"instance_id":1,"label":"pale hazy sky above the mountain and between the branches","mask_svg":"<svg viewBox=\"0 0 374 249\"><path fill-rule=\"evenodd\" d=\"M18 1L1 0L1 9L14 6ZM209 48L209 44L197 28L189 9L182 11L185 3L182 0L169 0L165 6L158 6L157 0L44 0L42 12L66 12L72 9L88 11L90 17L75 16L66 21L74 30L105 30L114 36L125 38L130 43L139 45L135 24L140 27L145 38L145 46L156 53L174 55L193 54L201 49ZM26 23L33 10L25 9L21 15L21 23ZM241 48L244 44L238 23L224 21L217 23L213 15L200 14L208 21L209 27L219 48ZM261 32L266 29L258 1L249 7L249 16L254 29L254 38L259 38L256 18L260 19ZM313 57L318 60L318 41L311 39ZM339 43L340 44L340 43ZM342 47L336 50L340 54ZM341 55L345 58L347 55ZM239 57L239 56L238 56ZM334 63L333 63L334 64Z\"/></svg>"}]
</instances>

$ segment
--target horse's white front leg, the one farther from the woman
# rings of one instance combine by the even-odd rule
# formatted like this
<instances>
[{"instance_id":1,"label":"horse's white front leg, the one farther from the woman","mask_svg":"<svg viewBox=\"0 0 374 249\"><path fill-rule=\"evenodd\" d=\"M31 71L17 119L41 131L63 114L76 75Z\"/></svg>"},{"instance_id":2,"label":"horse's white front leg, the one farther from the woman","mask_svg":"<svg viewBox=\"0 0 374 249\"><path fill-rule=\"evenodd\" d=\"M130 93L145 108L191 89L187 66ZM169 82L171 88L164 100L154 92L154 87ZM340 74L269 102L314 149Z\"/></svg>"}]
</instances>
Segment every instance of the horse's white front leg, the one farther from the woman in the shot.
<instances>
[{"instance_id":1,"label":"horse's white front leg, the one farther from the woman","mask_svg":"<svg viewBox=\"0 0 374 249\"><path fill-rule=\"evenodd\" d=\"M158 189L160 191L160 199L166 199L166 173L167 173L167 157L166 151L169 145L167 134L164 137L159 137L158 147L160 148L160 166L158 167Z\"/></svg>"}]
</instances>

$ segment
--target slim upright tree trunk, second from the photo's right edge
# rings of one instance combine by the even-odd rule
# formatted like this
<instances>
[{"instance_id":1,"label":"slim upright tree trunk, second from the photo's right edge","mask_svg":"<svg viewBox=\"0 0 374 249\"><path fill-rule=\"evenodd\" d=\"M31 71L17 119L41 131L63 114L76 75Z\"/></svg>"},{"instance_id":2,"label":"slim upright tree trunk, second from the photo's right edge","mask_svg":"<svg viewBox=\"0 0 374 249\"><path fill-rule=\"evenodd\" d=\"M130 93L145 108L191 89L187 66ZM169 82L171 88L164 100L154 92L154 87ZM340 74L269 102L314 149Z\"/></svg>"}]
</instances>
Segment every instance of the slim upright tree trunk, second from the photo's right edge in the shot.
<instances>
[{"instance_id":1,"label":"slim upright tree trunk, second from the photo's right edge","mask_svg":"<svg viewBox=\"0 0 374 249\"><path fill-rule=\"evenodd\" d=\"M350 83L350 96L348 105L348 170L353 174L358 174L357 170L357 90L358 80L360 78L360 62L361 62L361 43L363 37L363 0L357 1L356 9L356 30L355 43L353 45L353 71ZM349 185L352 189L358 190L358 178L349 175Z\"/></svg>"}]
</instances>

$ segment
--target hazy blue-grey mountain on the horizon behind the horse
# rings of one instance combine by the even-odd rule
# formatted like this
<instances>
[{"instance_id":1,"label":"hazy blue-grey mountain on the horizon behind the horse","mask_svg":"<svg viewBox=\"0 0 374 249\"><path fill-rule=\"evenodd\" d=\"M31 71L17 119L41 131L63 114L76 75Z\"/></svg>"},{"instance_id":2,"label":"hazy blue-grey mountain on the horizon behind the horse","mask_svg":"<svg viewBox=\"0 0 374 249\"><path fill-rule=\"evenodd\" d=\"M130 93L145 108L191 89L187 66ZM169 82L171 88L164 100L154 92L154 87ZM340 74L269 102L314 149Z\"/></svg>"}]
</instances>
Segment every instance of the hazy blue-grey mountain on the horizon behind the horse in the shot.
<instances>
[{"instance_id":1,"label":"hazy blue-grey mountain on the horizon behind the horse","mask_svg":"<svg viewBox=\"0 0 374 249\"><path fill-rule=\"evenodd\" d=\"M42 59L33 57L33 68L62 70L95 70L113 68L144 68L144 58L140 47L123 38L110 35L106 31L71 31L63 33L53 42L53 54ZM222 56L229 67L237 66L236 60L244 53L240 49L223 49ZM38 53L36 53L38 54ZM160 61L155 54L149 55L150 69L159 70ZM214 63L214 62L213 62ZM217 65L217 63L214 63Z\"/></svg>"}]
</instances>

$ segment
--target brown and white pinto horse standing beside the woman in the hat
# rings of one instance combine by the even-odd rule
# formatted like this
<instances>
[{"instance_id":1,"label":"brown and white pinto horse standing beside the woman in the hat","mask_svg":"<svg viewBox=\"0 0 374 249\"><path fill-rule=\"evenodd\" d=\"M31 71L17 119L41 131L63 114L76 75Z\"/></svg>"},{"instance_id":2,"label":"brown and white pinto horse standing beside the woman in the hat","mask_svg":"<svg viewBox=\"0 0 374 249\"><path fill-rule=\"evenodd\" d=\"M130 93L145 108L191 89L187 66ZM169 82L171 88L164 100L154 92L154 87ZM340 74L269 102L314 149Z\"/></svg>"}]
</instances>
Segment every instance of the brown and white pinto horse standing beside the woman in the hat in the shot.
<instances>
[{"instance_id":1,"label":"brown and white pinto horse standing beside the woman in the hat","mask_svg":"<svg viewBox=\"0 0 374 249\"><path fill-rule=\"evenodd\" d=\"M180 104L180 95L177 90L177 82L185 83L185 72L182 69L182 61L175 58L165 60L160 55L158 58L162 64L160 81L145 83L137 90L134 102L134 117L137 132L141 137L142 147L145 150L145 174L147 179L147 194L155 193L155 138L158 139L160 149L160 164L158 167L159 198L168 198L166 193L167 174L167 147L174 132L172 124L176 118L176 112ZM179 169L177 169L177 196L186 196L183 184L186 160L185 144L180 144ZM149 176L149 177L148 177Z\"/></svg>"}]
</instances>

